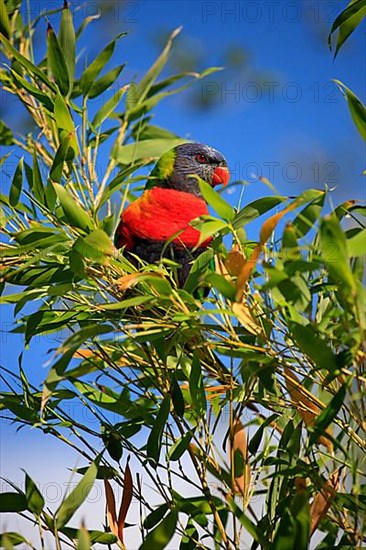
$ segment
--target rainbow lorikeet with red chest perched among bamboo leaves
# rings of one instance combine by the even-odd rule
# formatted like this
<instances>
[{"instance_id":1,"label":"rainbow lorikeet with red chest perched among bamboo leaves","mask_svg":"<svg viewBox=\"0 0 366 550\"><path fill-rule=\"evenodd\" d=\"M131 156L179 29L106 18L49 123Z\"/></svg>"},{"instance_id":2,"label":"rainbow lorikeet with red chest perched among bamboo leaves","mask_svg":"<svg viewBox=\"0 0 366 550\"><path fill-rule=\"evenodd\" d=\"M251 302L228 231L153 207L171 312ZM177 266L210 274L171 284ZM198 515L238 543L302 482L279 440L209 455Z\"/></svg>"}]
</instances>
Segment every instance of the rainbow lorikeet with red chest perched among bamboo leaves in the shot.
<instances>
[{"instance_id":1,"label":"rainbow lorikeet with red chest perched among bamboo leaves","mask_svg":"<svg viewBox=\"0 0 366 550\"><path fill-rule=\"evenodd\" d=\"M178 284L183 286L192 261L207 249L211 238L200 241L200 231L190 222L208 214L197 178L212 187L230 178L223 155L208 145L184 143L165 153L152 170L141 197L121 215L114 244L124 247L136 265L136 256L148 263L161 257L180 264Z\"/></svg>"}]
</instances>

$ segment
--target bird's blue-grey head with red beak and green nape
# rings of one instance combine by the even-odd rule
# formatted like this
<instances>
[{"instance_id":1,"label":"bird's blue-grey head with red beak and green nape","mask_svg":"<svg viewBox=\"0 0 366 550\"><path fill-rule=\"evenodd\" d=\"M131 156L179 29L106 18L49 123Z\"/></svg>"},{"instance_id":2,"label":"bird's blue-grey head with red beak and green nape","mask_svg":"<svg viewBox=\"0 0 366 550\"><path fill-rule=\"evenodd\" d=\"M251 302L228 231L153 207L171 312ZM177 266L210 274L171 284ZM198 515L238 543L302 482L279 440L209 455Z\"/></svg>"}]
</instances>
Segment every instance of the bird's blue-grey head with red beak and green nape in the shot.
<instances>
[{"instance_id":1,"label":"bird's blue-grey head with red beak and green nape","mask_svg":"<svg viewBox=\"0 0 366 550\"><path fill-rule=\"evenodd\" d=\"M226 185L230 172L223 155L209 145L183 143L165 153L150 174L147 188L166 187L201 196L199 176L209 185Z\"/></svg>"}]
</instances>

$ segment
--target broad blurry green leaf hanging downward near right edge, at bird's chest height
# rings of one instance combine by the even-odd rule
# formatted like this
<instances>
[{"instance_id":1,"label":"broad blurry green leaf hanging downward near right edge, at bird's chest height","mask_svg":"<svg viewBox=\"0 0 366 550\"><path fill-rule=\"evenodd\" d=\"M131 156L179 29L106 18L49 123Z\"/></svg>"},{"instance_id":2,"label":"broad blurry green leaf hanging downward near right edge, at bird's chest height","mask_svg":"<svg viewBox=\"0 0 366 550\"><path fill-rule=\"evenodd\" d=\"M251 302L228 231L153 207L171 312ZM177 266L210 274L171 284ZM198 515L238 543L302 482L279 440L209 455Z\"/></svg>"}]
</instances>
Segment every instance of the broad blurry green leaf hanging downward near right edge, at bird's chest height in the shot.
<instances>
[{"instance_id":1,"label":"broad blurry green leaf hanging downward near right edge, at bird's chest height","mask_svg":"<svg viewBox=\"0 0 366 550\"><path fill-rule=\"evenodd\" d=\"M327 216L320 224L320 253L330 275L345 289L355 290L348 259L347 240L336 216Z\"/></svg>"}]
</instances>

